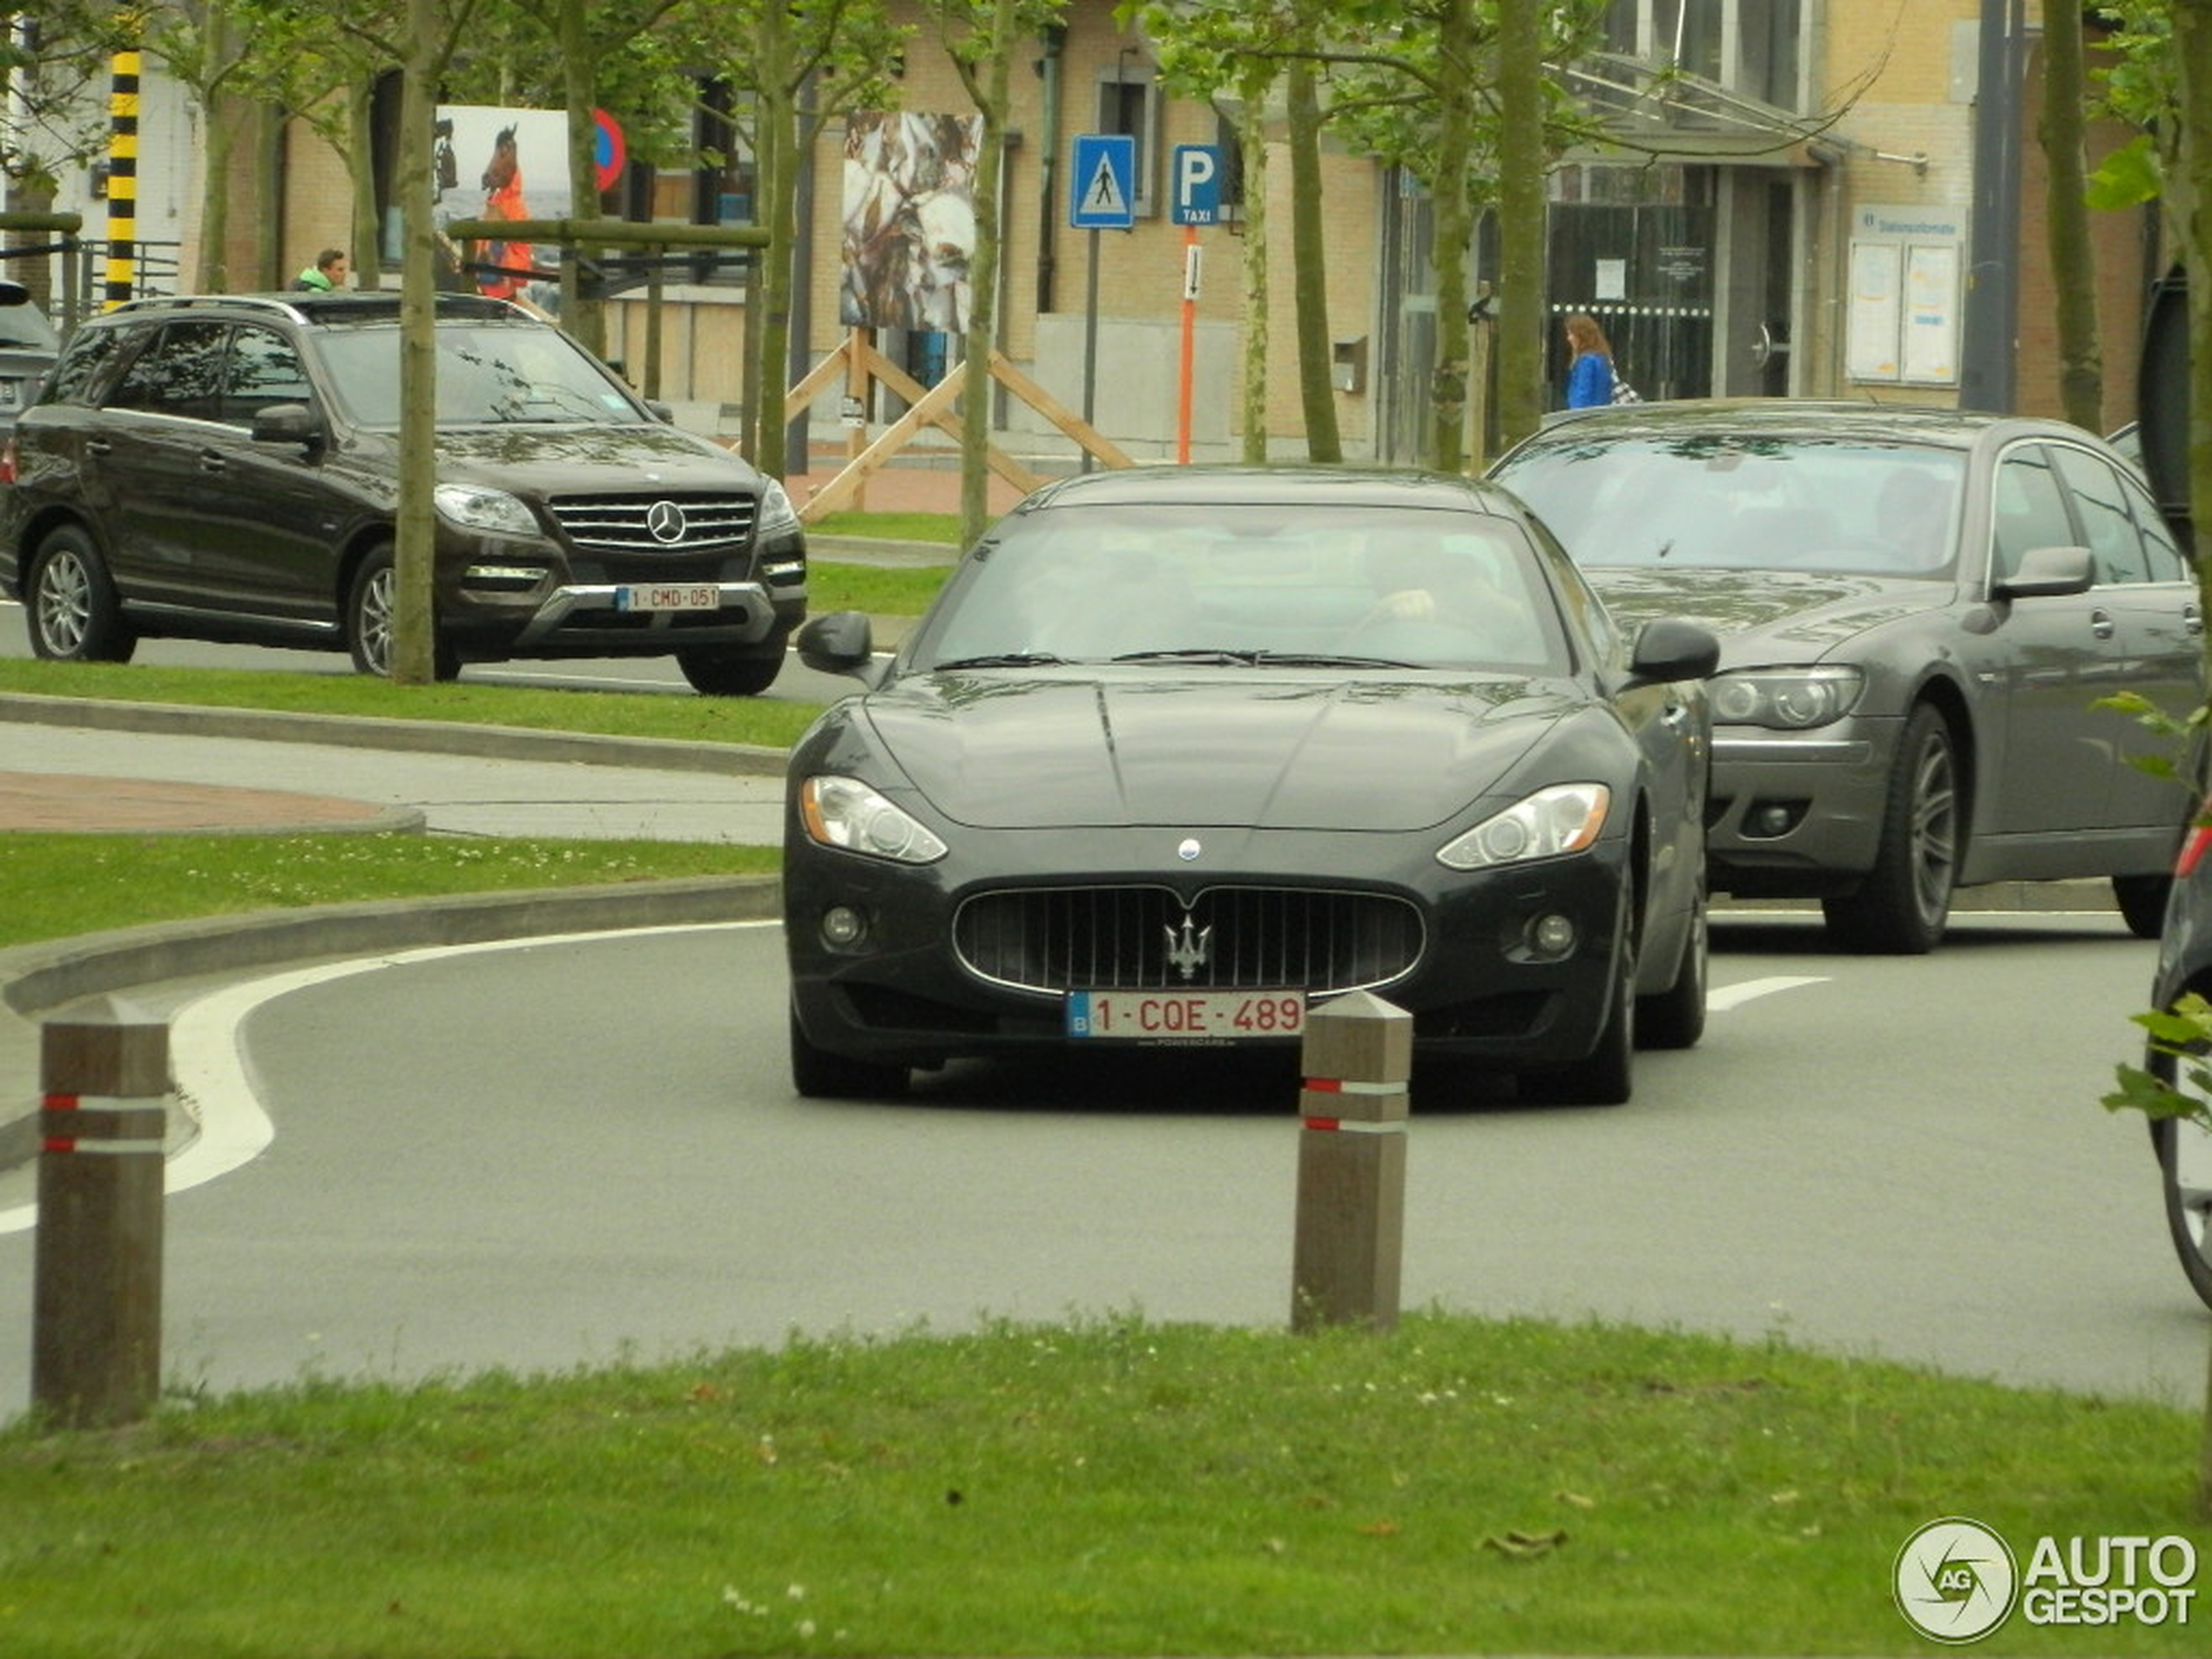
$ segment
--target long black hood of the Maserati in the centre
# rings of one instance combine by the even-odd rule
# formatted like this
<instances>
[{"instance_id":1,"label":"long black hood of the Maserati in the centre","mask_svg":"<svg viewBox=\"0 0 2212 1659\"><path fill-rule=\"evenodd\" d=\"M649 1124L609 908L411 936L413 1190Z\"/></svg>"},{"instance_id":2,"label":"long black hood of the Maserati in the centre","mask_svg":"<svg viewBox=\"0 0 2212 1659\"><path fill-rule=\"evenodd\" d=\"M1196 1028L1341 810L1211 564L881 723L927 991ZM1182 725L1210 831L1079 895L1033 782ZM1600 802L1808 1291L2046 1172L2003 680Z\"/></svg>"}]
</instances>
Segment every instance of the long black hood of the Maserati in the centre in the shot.
<instances>
[{"instance_id":1,"label":"long black hood of the Maserati in the centre","mask_svg":"<svg viewBox=\"0 0 2212 1659\"><path fill-rule=\"evenodd\" d=\"M953 823L1425 830L1575 706L1559 681L918 675L865 699Z\"/></svg>"}]
</instances>

